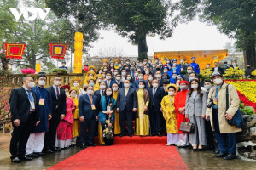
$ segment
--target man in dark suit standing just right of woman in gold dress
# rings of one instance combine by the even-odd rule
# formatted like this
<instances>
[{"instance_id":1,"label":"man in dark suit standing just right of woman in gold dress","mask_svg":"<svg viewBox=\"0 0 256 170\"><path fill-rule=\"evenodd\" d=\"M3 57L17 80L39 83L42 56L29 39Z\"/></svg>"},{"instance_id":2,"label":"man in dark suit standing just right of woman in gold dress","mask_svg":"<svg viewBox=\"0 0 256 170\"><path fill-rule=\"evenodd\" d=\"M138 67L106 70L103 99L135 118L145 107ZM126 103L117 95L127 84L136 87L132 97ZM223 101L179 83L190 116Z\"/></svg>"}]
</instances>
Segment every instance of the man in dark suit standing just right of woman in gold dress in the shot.
<instances>
[{"instance_id":1,"label":"man in dark suit standing just right of woman in gold dress","mask_svg":"<svg viewBox=\"0 0 256 170\"><path fill-rule=\"evenodd\" d=\"M150 127L151 127L151 135L155 134L161 136L161 116L162 112L161 101L163 99L163 93L160 88L160 83L158 80L153 80L152 82L153 88L150 88L149 91L149 119L150 119Z\"/></svg>"}]
</instances>

